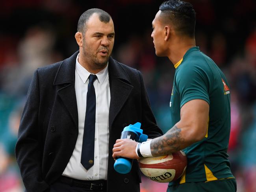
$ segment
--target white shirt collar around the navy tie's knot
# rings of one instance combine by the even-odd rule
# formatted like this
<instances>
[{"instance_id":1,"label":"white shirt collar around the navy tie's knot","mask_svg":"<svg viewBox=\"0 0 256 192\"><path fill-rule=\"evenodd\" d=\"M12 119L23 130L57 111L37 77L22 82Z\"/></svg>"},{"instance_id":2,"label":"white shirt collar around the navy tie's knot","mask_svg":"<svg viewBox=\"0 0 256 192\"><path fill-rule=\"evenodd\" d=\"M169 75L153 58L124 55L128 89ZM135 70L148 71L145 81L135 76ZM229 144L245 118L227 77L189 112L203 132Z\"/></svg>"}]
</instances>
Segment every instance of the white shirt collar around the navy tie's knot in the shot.
<instances>
[{"instance_id":1,"label":"white shirt collar around the navy tie's knot","mask_svg":"<svg viewBox=\"0 0 256 192\"><path fill-rule=\"evenodd\" d=\"M80 78L82 79L83 83L85 83L87 81L87 79L89 78L90 73L89 71L87 71L79 62L78 62L78 57L79 54L76 57L76 72L78 73L78 75L80 76ZM93 74L97 76L97 79L100 83L100 85L104 82L106 76L108 75L108 64L107 66L102 69L100 72L98 72L97 74Z\"/></svg>"}]
</instances>

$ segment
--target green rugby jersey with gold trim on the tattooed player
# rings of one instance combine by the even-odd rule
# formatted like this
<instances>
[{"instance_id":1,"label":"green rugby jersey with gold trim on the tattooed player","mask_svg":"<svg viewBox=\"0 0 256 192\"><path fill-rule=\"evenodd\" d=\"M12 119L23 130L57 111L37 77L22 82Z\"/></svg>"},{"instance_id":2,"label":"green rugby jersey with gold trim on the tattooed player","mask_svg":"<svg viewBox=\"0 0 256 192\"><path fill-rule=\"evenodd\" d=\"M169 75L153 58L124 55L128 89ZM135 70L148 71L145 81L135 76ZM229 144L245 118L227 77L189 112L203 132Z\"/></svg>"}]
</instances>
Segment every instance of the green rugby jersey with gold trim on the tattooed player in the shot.
<instances>
[{"instance_id":1,"label":"green rugby jersey with gold trim on the tattooed player","mask_svg":"<svg viewBox=\"0 0 256 192\"><path fill-rule=\"evenodd\" d=\"M230 90L226 77L198 47L190 48L174 67L176 71L170 101L171 127L180 121L180 109L190 100L205 100L210 105L210 112L204 139L183 150L187 155L186 172L173 183L234 178L227 159Z\"/></svg>"}]
</instances>

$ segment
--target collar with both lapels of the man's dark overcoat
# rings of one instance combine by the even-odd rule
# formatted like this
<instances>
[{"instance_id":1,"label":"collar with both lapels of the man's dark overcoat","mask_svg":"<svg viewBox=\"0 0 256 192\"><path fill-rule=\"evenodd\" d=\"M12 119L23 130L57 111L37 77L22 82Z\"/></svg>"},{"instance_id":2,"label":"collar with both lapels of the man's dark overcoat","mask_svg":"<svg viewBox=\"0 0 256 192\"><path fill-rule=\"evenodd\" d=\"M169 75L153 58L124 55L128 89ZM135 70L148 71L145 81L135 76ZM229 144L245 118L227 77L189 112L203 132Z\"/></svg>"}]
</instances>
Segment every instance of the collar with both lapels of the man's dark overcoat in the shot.
<instances>
[{"instance_id":1,"label":"collar with both lapels of the man's dark overcoat","mask_svg":"<svg viewBox=\"0 0 256 192\"><path fill-rule=\"evenodd\" d=\"M76 103L76 92L74 89L75 82L75 64L79 51L71 57L65 59L59 66L58 72L54 79L53 85L60 85L58 95L63 100L64 105L68 109L72 119L78 128L78 112ZM130 96L133 89L130 77L124 67L109 58L109 85L110 85L110 106L109 106L109 127L113 125L113 121L121 111L124 103Z\"/></svg>"}]
</instances>

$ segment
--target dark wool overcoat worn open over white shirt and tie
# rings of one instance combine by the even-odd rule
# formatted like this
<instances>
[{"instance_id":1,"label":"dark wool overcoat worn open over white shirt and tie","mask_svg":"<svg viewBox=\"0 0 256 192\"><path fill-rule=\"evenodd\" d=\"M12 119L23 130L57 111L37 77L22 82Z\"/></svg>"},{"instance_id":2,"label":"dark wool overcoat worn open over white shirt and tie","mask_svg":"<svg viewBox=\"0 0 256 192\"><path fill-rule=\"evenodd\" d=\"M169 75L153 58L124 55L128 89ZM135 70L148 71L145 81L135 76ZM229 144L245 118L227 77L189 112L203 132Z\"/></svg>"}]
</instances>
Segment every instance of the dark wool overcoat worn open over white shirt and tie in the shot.
<instances>
[{"instance_id":1,"label":"dark wool overcoat worn open over white shirt and tie","mask_svg":"<svg viewBox=\"0 0 256 192\"><path fill-rule=\"evenodd\" d=\"M63 173L78 137L75 64L78 52L38 68L28 90L15 148L26 191L48 191ZM137 161L128 174L114 168L112 149L124 126L141 122L150 138L162 134L150 109L141 72L109 59L108 192L139 192Z\"/></svg>"}]
</instances>

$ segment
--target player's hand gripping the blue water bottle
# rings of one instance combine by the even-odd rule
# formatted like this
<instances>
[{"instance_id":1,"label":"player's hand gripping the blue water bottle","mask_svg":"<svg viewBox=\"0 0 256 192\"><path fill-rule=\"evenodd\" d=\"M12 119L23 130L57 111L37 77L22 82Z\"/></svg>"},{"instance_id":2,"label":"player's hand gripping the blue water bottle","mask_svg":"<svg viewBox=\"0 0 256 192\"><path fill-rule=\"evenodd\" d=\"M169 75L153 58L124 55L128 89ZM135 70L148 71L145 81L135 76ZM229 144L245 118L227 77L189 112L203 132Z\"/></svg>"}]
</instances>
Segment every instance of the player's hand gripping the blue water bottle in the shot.
<instances>
[{"instance_id":1,"label":"player's hand gripping the blue water bottle","mask_svg":"<svg viewBox=\"0 0 256 192\"><path fill-rule=\"evenodd\" d=\"M117 139L114 148L112 157L127 157L130 159L139 159L136 154L137 142L128 138Z\"/></svg>"}]
</instances>

